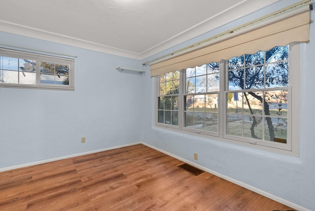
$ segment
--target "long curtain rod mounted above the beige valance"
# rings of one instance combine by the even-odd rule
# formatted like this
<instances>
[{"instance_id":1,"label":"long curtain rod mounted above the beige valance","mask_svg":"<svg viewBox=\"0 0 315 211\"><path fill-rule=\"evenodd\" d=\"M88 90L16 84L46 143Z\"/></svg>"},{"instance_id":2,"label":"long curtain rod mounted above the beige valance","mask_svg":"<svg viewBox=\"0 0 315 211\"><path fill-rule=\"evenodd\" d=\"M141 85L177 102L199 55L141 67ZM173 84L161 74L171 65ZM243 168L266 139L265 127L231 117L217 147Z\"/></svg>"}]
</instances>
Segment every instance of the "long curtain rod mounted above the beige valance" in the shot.
<instances>
[{"instance_id":1,"label":"long curtain rod mounted above the beige valance","mask_svg":"<svg viewBox=\"0 0 315 211\"><path fill-rule=\"evenodd\" d=\"M272 17L277 17L277 16L282 15L282 14L284 14L284 13L287 13L287 12L289 12L289 11L293 11L293 10L295 10L295 9L301 8L301 7L303 7L303 6L307 5L307 4L310 4L310 9L313 10L313 5L312 5L312 3L313 3L314 1L315 1L315 0L302 0L302 1L300 1L300 2L297 2L297 3L295 3L295 4L292 4L292 5L290 5L290 6L287 6L287 7L283 8L283 9L280 9L280 10L278 10L278 11L276 11L276 12L270 13L270 14L268 14L268 15L265 15L265 16L261 17L261 18L255 19L255 20L253 20L253 21L251 21L251 22L248 22L248 23L246 23L246 24L243 24L243 25L241 25L241 26L238 26L238 27L236 27L236 28L233 28L233 29L231 29L231 30L228 30L228 31L226 31L226 32L223 32L223 33L221 33L221 34L219 34L219 35L212 36L212 37L210 37L210 38L207 38L207 39L204 39L204 40L199 41L199 42L197 42L197 43L194 43L194 44L192 44L192 45L189 45L189 46L187 46L187 47L181 48L181 49L179 49L179 50L176 50L176 51L173 51L173 52L171 52L171 53L165 54L165 55L160 56L160 57L158 57L158 58L155 58L155 59L149 60L149 61L147 61L147 62L144 62L144 63L142 63L142 65L148 65L148 64L149 64L149 65L152 65L152 64L154 64L154 63L158 63L158 62L161 62L161 61L164 61L164 60L167 60L167 59L170 59L170 58L173 58L173 57L182 55L182 54L184 54L184 53L188 53L188 52L190 52L190 51L196 50L198 47L200 48L200 47L206 45L206 44L209 43L210 41L214 41L214 40L216 40L216 39L218 39L218 38L222 38L222 37L225 37L225 36L227 36L227 35L231 35L232 33L238 32L238 31L240 31L240 30L244 30L244 29L247 28L247 27L250 27L250 26L255 25L255 24L258 24L258 23L261 23L261 22L263 22L263 21L267 21L267 20L271 19Z\"/></svg>"}]
</instances>

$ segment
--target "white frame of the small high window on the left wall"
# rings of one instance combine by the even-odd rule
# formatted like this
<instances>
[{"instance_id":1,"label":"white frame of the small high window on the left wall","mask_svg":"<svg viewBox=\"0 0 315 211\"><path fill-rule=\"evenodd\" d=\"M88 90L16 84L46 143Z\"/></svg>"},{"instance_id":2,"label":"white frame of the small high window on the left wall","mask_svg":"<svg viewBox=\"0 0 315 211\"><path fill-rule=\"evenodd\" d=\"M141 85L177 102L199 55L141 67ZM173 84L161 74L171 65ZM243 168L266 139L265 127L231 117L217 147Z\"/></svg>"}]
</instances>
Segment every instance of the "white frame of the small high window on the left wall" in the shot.
<instances>
[{"instance_id":1,"label":"white frame of the small high window on the left wall","mask_svg":"<svg viewBox=\"0 0 315 211\"><path fill-rule=\"evenodd\" d=\"M31 53L31 52L25 52L25 51L19 51L19 50L11 50L11 49L5 49L5 48L0 48L0 56L17 58L17 59L29 59L29 60L36 61L35 83L33 84L7 83L7 82L0 81L0 87L74 91L74 60L73 59L48 56L48 55L43 55L43 54L37 54L37 53ZM41 62L68 66L69 67L69 74L68 74L69 84L40 83L40 75L41 75L40 63Z\"/></svg>"}]
</instances>

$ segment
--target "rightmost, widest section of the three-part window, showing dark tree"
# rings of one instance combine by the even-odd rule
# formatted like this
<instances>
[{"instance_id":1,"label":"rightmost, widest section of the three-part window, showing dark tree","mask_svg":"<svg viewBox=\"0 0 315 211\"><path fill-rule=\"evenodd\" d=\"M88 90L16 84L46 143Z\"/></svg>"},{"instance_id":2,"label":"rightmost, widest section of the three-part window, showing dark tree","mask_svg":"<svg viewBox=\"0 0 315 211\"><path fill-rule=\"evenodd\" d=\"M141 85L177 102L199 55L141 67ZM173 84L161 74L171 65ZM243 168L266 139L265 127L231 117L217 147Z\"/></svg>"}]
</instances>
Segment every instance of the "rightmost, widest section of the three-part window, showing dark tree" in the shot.
<instances>
[{"instance_id":1,"label":"rightmost, widest section of the three-part window, showing dark tree","mask_svg":"<svg viewBox=\"0 0 315 211\"><path fill-rule=\"evenodd\" d=\"M228 60L227 135L287 142L288 46Z\"/></svg>"}]
</instances>

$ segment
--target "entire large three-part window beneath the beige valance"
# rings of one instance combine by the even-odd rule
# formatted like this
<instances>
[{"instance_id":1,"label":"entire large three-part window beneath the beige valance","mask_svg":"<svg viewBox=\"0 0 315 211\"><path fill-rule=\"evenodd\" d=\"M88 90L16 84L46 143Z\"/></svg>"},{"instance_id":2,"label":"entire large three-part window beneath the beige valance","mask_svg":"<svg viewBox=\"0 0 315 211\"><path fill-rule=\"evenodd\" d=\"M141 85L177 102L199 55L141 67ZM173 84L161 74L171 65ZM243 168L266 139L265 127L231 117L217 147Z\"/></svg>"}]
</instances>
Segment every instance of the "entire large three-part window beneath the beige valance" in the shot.
<instances>
[{"instance_id":1,"label":"entire large three-part window beneath the beige valance","mask_svg":"<svg viewBox=\"0 0 315 211\"><path fill-rule=\"evenodd\" d=\"M296 57L298 44L277 46L160 75L157 124L291 151L298 137Z\"/></svg>"}]
</instances>

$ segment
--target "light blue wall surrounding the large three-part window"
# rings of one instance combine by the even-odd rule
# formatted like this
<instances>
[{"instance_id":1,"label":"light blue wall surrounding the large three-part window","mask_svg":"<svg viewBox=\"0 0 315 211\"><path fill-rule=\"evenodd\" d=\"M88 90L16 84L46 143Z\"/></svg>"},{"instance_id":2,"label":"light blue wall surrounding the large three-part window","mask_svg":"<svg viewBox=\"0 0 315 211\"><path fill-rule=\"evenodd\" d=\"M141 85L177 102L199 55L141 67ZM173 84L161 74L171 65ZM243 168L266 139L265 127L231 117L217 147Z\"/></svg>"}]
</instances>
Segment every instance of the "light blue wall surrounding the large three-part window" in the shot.
<instances>
[{"instance_id":1,"label":"light blue wall surrounding the large three-part window","mask_svg":"<svg viewBox=\"0 0 315 211\"><path fill-rule=\"evenodd\" d=\"M198 40L211 37L237 27L255 18L284 8L297 0L281 0L245 18L222 26L205 35L196 37L179 46L174 46L145 61L185 47ZM314 19L315 12L311 12ZM294 158L249 147L201 138L193 134L180 133L155 127L155 78L147 74L144 82L142 112L142 140L171 154L189 160L222 175L244 182L304 208L315 210L315 25L311 24L311 41L301 44L300 86L300 157ZM149 67L146 67L147 71ZM193 153L198 153L198 161Z\"/></svg>"}]
</instances>

